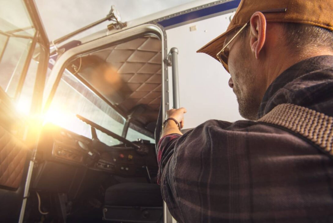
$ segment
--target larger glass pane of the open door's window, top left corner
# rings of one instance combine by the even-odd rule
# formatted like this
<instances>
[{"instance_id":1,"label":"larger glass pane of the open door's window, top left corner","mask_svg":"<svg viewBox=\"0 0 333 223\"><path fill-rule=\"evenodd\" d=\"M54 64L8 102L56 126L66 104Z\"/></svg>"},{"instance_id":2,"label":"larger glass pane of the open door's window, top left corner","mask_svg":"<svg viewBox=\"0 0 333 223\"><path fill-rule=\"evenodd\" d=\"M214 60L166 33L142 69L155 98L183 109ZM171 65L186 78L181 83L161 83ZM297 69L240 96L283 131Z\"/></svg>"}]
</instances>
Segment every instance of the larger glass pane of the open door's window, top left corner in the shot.
<instances>
[{"instance_id":1,"label":"larger glass pane of the open door's window, top left corner","mask_svg":"<svg viewBox=\"0 0 333 223\"><path fill-rule=\"evenodd\" d=\"M0 87L14 97L35 28L22 0L5 0L0 7Z\"/></svg>"}]
</instances>

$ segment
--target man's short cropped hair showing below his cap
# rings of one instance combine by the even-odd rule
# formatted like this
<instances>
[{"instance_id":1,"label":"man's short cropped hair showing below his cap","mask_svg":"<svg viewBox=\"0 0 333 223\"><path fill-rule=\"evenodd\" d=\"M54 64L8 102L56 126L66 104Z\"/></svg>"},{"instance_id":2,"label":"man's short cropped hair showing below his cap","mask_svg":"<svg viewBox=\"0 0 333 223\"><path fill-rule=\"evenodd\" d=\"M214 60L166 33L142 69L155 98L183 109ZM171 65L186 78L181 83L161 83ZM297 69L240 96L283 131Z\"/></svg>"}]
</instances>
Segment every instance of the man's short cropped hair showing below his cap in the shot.
<instances>
[{"instance_id":1,"label":"man's short cropped hair showing below his cap","mask_svg":"<svg viewBox=\"0 0 333 223\"><path fill-rule=\"evenodd\" d=\"M319 26L307 25L302 23L282 23L285 32L284 38L286 40L286 46L299 52L305 48L328 48L333 50L333 32L331 30L321 28ZM227 37L232 38L238 30L235 29ZM247 26L240 36L245 38L250 30L250 26Z\"/></svg>"}]
</instances>

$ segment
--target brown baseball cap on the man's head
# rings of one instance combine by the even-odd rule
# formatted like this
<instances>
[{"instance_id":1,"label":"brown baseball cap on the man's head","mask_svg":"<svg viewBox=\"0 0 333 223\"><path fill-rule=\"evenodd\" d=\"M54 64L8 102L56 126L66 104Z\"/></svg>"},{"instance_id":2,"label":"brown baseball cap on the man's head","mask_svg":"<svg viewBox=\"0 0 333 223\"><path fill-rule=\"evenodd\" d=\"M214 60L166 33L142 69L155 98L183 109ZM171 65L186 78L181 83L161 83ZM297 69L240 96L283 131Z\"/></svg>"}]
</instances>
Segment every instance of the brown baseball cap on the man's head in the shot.
<instances>
[{"instance_id":1,"label":"brown baseball cap on the man's head","mask_svg":"<svg viewBox=\"0 0 333 223\"><path fill-rule=\"evenodd\" d=\"M264 12L275 9L279 12ZM281 13L281 9L286 10ZM241 0L228 29L197 53L205 53L218 60L216 54L222 49L226 35L242 27L258 11L263 12L267 22L303 23L333 31L333 0Z\"/></svg>"}]
</instances>

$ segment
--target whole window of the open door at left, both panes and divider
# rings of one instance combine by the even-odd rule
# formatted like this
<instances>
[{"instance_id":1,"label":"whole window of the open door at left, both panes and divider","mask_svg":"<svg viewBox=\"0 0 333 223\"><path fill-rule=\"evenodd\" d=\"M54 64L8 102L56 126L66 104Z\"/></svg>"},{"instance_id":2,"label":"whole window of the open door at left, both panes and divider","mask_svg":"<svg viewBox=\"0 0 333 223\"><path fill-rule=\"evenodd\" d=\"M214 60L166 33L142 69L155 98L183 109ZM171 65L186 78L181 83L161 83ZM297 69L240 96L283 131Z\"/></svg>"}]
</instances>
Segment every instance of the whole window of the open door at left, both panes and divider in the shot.
<instances>
[{"instance_id":1,"label":"whole window of the open door at left, both panes and divider","mask_svg":"<svg viewBox=\"0 0 333 223\"><path fill-rule=\"evenodd\" d=\"M31 109L40 59L46 56L39 38L40 33L24 1L3 2L0 7L0 88L25 114Z\"/></svg>"}]
</instances>

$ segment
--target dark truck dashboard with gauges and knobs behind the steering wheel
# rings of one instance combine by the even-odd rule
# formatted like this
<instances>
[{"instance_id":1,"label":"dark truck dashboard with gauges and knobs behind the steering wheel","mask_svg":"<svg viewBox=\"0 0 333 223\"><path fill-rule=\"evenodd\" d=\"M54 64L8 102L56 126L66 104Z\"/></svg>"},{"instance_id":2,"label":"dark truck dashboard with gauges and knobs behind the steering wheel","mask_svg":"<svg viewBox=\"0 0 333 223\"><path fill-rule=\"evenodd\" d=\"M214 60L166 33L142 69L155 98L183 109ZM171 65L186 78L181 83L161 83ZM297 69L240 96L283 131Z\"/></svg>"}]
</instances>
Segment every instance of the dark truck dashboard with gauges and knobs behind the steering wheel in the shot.
<instances>
[{"instance_id":1,"label":"dark truck dashboard with gauges and knobs behind the steering wheel","mask_svg":"<svg viewBox=\"0 0 333 223\"><path fill-rule=\"evenodd\" d=\"M139 139L108 146L53 124L44 126L37 147L37 170L33 188L54 192L73 192L75 197L85 181L89 183L110 175L156 177L158 164L155 144Z\"/></svg>"}]
</instances>

